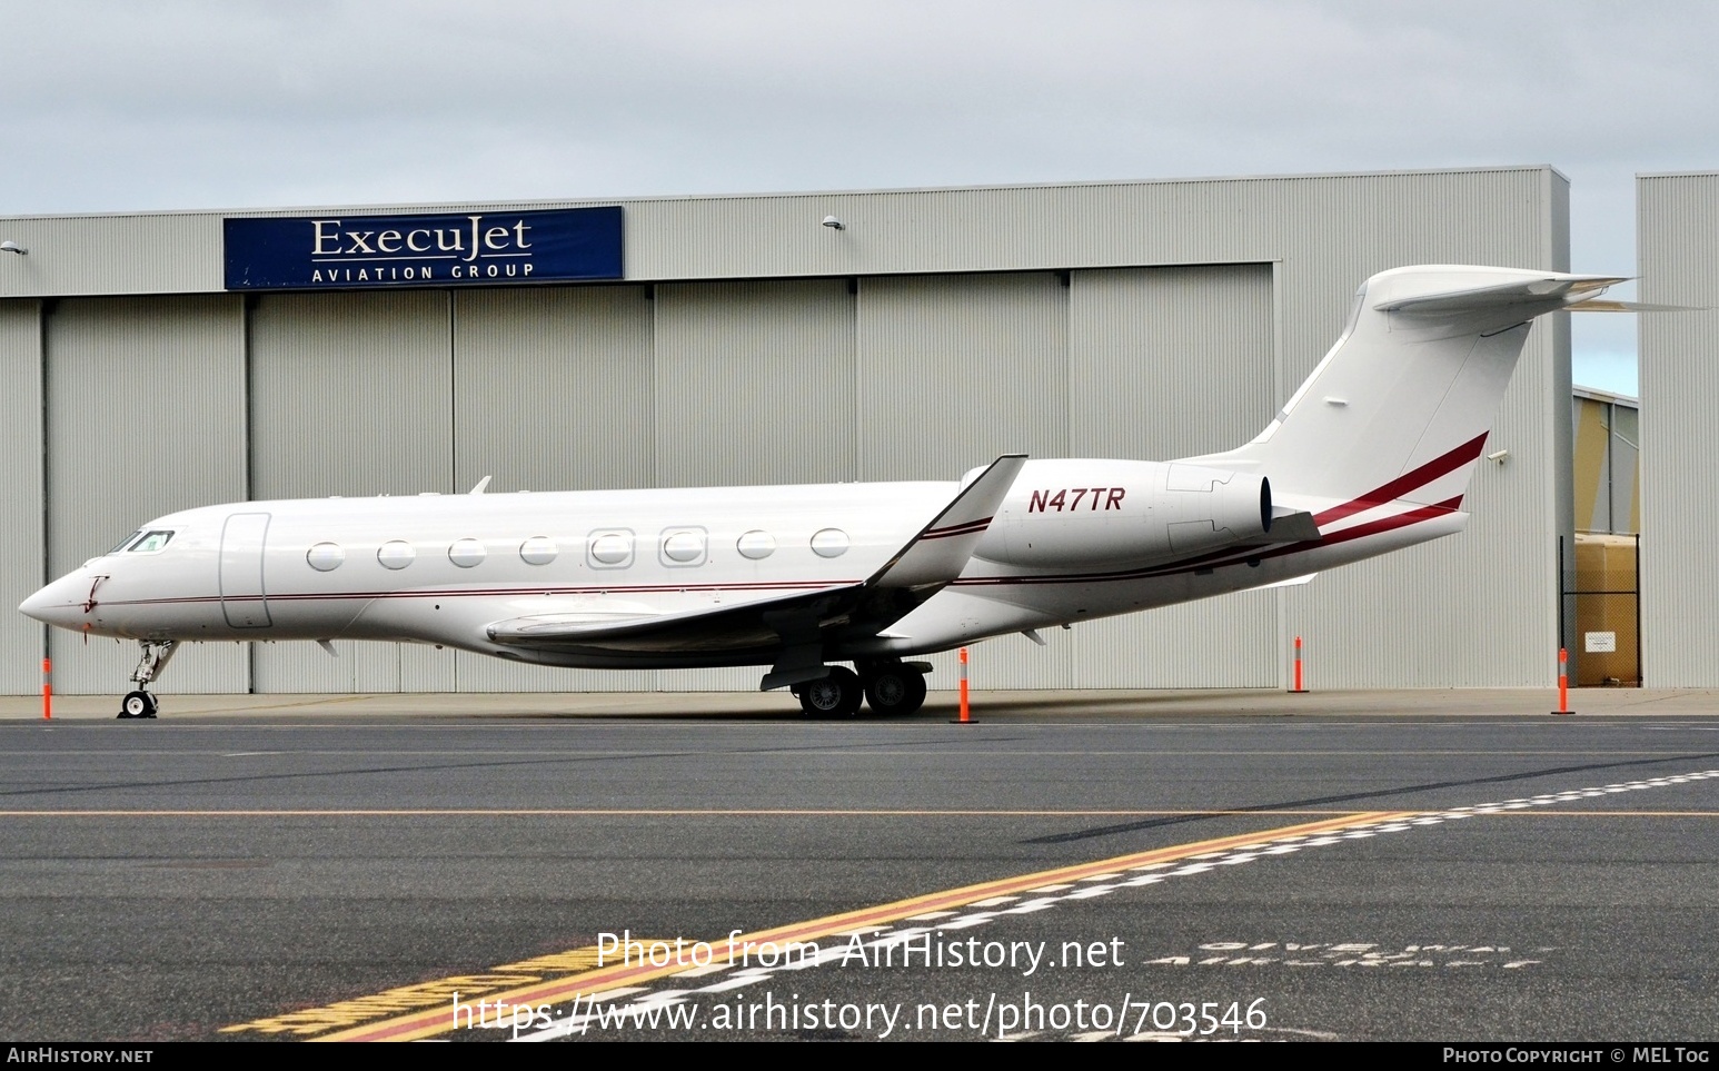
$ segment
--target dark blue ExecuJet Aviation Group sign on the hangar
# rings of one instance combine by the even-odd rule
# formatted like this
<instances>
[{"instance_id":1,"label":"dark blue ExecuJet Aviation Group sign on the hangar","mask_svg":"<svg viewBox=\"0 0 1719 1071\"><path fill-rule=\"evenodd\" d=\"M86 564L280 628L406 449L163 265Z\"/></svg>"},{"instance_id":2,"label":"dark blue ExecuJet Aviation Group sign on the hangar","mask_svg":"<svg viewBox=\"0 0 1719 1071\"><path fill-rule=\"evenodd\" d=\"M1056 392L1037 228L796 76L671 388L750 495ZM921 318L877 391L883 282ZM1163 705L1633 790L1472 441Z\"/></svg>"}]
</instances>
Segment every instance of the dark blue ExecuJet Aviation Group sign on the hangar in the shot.
<instances>
[{"instance_id":1,"label":"dark blue ExecuJet Aviation Group sign on the hangar","mask_svg":"<svg viewBox=\"0 0 1719 1071\"><path fill-rule=\"evenodd\" d=\"M223 223L229 291L621 278L619 206Z\"/></svg>"}]
</instances>

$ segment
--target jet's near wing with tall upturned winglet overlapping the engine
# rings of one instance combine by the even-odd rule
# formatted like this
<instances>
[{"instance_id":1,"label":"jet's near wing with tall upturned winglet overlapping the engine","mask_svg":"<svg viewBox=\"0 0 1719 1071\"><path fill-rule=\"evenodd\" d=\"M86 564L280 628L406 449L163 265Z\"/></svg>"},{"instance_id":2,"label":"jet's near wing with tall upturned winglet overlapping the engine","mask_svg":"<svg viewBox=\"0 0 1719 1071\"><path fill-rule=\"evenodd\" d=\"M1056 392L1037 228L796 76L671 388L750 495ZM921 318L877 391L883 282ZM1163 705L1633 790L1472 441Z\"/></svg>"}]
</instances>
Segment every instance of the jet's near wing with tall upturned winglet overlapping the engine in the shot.
<instances>
[{"instance_id":1,"label":"jet's near wing with tall upturned winglet overlapping the engine","mask_svg":"<svg viewBox=\"0 0 1719 1071\"><path fill-rule=\"evenodd\" d=\"M966 483L901 550L858 584L770 593L741 603L669 614L540 614L488 626L493 643L545 652L655 655L674 652L786 650L777 670L801 677L823 645L846 634L877 634L961 576L980 536L1009 493L1025 454L1006 454ZM767 686L798 682L772 674ZM815 679L815 677L801 677Z\"/></svg>"}]
</instances>

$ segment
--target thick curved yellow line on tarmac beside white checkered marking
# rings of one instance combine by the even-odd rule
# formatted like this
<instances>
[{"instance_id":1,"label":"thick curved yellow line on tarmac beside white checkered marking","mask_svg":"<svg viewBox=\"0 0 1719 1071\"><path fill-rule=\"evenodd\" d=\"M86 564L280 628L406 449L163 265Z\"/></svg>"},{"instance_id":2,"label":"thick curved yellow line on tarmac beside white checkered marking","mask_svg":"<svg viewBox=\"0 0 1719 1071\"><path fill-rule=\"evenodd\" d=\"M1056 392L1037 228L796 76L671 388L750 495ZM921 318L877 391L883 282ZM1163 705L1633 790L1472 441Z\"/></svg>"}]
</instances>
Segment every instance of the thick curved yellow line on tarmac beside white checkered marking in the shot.
<instances>
[{"instance_id":1,"label":"thick curved yellow line on tarmac beside white checkered marking","mask_svg":"<svg viewBox=\"0 0 1719 1071\"><path fill-rule=\"evenodd\" d=\"M1413 818L1425 815L1427 811L1361 811L1348 813L1339 818L1324 818L1320 822L1305 822L1300 825L1284 825L1279 829L1267 829L1251 834L1236 834L1231 837L1215 837L1210 841L1195 841L1191 844L1176 844L1171 848L1153 848L1150 851L1136 851L1126 856L1112 856L1109 860L1095 860L1090 863L1076 863L1073 866L1057 866L1055 870L1038 870L1033 873L1023 873L1009 878L999 878L992 882L980 882L976 885L963 885L959 889L945 889L942 892L928 892L923 896L913 896L908 899L892 901L887 904L877 904L873 908L860 908L858 911L842 911L839 915L825 915L823 918L811 918L806 921L787 923L782 927L774 927L768 930L758 930L755 933L744 933L734 937L734 946L741 947L746 942L767 944L774 942L782 947L787 942L810 942L822 937L832 937L837 933L849 933L853 930L880 928L887 923L901 921L913 915L923 915L927 911L937 911L945 908L964 908L976 901L990 899L994 896L1009 896L1016 892L1028 892L1038 889L1040 885L1052 885L1062 882L1076 882L1080 878L1110 873L1114 870L1128 870L1136 866L1147 866L1152 863L1172 863L1178 860L1186 860L1190 856L1227 851L1239 848L1243 844L1257 844L1262 841L1282 841L1288 837L1306 837L1313 834L1334 832L1339 829L1351 829L1360 825L1379 825L1382 822L1394 822L1399 818ZM729 939L724 937L712 942L712 947L729 947ZM511 990L502 992L462 992L462 1001L466 997L481 997L483 1001L502 1001L505 1004L560 1004L578 997L590 997L591 994L602 994L607 990L638 985L641 982L652 982L657 978L665 978L688 970L684 963L669 966L650 966L650 964L617 964L605 966L593 971L583 971L578 975L569 975L562 978L538 980L531 985L519 985ZM500 978L502 975L473 975L471 978ZM454 1026L452 1006L449 1002L452 990L447 990L450 980L428 982L423 983L425 995L430 995L431 987L438 987L435 992L440 994L438 1002L433 1007L423 1011L414 1011L409 1014L395 1016L390 1019L382 1019L376 1023L366 1023L363 1026L352 1026L349 1030L340 1030L337 1033L327 1033L311 1040L318 1042L413 1042L418 1038L428 1038L440 1033L450 1033ZM447 990L447 992L442 992ZM395 990L390 990L395 992ZM246 1030L249 1025L225 1026L227 1031Z\"/></svg>"}]
</instances>

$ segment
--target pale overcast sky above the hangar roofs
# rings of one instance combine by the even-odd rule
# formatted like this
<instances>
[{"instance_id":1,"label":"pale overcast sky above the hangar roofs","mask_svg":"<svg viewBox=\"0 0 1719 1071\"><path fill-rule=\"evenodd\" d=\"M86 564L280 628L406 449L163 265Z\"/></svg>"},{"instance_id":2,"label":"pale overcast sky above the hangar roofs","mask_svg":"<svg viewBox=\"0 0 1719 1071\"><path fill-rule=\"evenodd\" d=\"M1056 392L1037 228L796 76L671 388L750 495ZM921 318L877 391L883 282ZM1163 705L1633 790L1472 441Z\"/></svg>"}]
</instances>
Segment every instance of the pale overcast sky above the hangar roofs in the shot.
<instances>
[{"instance_id":1,"label":"pale overcast sky above the hangar roofs","mask_svg":"<svg viewBox=\"0 0 1719 1071\"><path fill-rule=\"evenodd\" d=\"M1697 2L0 0L0 215L1551 163L1573 268L1719 167ZM1635 392L1635 316L1576 316Z\"/></svg>"}]
</instances>

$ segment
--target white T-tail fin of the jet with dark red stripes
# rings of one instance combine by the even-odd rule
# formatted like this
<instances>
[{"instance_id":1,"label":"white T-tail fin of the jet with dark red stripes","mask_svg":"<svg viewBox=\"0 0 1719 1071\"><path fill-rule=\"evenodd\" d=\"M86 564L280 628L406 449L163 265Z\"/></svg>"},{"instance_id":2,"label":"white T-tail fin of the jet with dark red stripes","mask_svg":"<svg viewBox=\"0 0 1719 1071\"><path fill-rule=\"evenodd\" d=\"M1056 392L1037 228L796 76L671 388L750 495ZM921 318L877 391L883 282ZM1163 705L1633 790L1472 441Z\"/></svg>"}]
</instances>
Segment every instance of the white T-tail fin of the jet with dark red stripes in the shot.
<instances>
[{"instance_id":1,"label":"white T-tail fin of the jet with dark red stripes","mask_svg":"<svg viewBox=\"0 0 1719 1071\"><path fill-rule=\"evenodd\" d=\"M1380 272L1277 419L1239 450L1191 461L1346 502L1461 499L1528 323L1618 282L1459 265Z\"/></svg>"}]
</instances>

